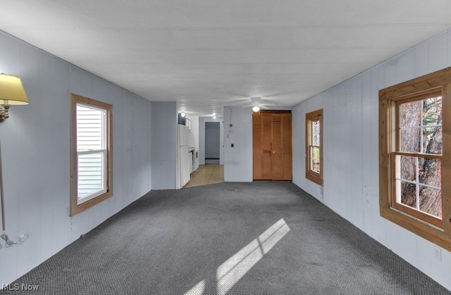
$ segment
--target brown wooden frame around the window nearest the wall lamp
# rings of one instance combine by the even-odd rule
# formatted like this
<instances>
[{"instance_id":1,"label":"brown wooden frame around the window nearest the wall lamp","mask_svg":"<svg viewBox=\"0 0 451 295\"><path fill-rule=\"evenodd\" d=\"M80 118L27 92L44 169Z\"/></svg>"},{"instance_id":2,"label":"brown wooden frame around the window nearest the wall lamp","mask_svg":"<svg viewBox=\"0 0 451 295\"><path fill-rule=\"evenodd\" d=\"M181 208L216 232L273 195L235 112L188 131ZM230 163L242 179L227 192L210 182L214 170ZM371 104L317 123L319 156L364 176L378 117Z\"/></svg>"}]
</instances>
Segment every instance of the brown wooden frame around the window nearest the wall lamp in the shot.
<instances>
[{"instance_id":1,"label":"brown wooden frame around the window nearest the wall lamp","mask_svg":"<svg viewBox=\"0 0 451 295\"><path fill-rule=\"evenodd\" d=\"M80 204L78 203L77 103L94 106L106 111L106 192ZM113 196L113 169L111 165L112 115L113 106L111 104L89 99L78 94L70 94L70 216L85 211Z\"/></svg>"}]
</instances>

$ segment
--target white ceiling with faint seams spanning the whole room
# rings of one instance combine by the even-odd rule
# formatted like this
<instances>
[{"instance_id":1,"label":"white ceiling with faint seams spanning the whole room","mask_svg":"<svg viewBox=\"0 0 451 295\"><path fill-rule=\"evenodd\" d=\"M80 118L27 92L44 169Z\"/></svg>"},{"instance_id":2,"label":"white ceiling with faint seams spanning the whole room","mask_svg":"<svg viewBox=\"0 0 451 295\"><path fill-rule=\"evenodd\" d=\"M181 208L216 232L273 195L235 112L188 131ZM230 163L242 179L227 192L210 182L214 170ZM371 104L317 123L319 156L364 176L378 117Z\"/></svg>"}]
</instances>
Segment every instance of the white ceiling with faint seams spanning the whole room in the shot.
<instances>
[{"instance_id":1,"label":"white ceiling with faint seams spanning the whole room","mask_svg":"<svg viewBox=\"0 0 451 295\"><path fill-rule=\"evenodd\" d=\"M2 0L0 30L206 116L252 96L293 106L445 32L450 11L450 0Z\"/></svg>"}]
</instances>

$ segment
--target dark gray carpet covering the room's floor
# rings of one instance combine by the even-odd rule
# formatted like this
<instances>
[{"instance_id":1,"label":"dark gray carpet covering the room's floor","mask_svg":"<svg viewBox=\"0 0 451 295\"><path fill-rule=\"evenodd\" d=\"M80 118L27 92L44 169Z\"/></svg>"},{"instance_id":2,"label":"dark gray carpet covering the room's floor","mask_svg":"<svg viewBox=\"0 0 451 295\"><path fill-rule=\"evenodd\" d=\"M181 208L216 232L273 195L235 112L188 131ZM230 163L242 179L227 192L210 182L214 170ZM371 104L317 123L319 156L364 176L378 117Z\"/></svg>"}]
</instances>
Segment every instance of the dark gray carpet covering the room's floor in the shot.
<instances>
[{"instance_id":1,"label":"dark gray carpet covering the room's floor","mask_svg":"<svg viewBox=\"0 0 451 295\"><path fill-rule=\"evenodd\" d=\"M280 218L290 231L227 294L450 294L290 182L152 191L16 283L39 285L32 294L185 294L203 282L198 294L221 294L218 267Z\"/></svg>"}]
</instances>

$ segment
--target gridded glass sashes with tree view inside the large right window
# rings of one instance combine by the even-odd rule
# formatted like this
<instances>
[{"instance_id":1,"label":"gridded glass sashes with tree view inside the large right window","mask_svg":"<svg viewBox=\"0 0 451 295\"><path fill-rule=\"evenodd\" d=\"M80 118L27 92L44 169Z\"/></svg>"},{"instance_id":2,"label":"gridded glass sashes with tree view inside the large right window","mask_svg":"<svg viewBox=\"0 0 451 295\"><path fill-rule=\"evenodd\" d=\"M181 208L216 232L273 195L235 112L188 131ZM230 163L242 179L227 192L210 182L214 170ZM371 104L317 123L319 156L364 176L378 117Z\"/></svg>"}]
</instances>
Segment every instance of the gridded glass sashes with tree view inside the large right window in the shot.
<instances>
[{"instance_id":1,"label":"gridded glass sashes with tree view inside the large right window","mask_svg":"<svg viewBox=\"0 0 451 295\"><path fill-rule=\"evenodd\" d=\"M394 207L440 226L442 96L397 101ZM421 214L417 214L419 212Z\"/></svg>"}]
</instances>

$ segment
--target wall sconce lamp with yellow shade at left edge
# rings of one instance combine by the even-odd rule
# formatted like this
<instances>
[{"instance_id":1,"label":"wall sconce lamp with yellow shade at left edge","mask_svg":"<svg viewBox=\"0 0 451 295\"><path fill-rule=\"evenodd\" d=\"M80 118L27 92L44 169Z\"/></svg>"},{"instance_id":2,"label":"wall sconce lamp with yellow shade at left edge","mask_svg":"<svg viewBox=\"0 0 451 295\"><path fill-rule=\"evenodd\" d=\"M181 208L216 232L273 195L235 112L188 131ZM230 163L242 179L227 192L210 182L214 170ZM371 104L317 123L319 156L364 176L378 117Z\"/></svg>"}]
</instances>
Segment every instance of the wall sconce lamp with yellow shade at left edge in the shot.
<instances>
[{"instance_id":1,"label":"wall sconce lamp with yellow shade at left edge","mask_svg":"<svg viewBox=\"0 0 451 295\"><path fill-rule=\"evenodd\" d=\"M0 122L9 118L9 106L28 104L27 94L20 77L0 73Z\"/></svg>"}]
</instances>

